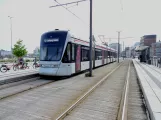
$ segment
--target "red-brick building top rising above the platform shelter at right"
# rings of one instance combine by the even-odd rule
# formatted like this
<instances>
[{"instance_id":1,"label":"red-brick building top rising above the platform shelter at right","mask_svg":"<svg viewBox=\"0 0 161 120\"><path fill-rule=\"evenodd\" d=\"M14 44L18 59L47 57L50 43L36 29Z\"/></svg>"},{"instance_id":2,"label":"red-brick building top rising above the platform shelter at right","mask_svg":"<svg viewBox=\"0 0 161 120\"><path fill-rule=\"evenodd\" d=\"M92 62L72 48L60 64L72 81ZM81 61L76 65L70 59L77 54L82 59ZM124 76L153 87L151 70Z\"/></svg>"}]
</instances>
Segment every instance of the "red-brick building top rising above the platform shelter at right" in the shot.
<instances>
[{"instance_id":1,"label":"red-brick building top rising above the platform shelter at right","mask_svg":"<svg viewBox=\"0 0 161 120\"><path fill-rule=\"evenodd\" d=\"M156 35L144 35L141 37L140 46L151 46L152 43L156 43Z\"/></svg>"}]
</instances>

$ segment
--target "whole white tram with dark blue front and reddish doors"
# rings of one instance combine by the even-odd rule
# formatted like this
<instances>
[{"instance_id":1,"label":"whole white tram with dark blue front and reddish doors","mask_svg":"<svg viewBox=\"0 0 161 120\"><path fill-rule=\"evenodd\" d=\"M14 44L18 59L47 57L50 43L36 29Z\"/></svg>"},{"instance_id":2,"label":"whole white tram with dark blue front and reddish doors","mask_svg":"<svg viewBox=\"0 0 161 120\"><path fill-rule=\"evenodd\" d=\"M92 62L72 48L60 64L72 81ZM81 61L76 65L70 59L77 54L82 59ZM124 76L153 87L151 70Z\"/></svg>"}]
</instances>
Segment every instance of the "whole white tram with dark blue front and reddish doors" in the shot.
<instances>
[{"instance_id":1,"label":"whole white tram with dark blue front and reddish doors","mask_svg":"<svg viewBox=\"0 0 161 120\"><path fill-rule=\"evenodd\" d=\"M93 68L116 61L116 50L102 45L94 48ZM87 69L89 42L72 37L69 31L55 30L41 36L40 75L70 76Z\"/></svg>"}]
</instances>

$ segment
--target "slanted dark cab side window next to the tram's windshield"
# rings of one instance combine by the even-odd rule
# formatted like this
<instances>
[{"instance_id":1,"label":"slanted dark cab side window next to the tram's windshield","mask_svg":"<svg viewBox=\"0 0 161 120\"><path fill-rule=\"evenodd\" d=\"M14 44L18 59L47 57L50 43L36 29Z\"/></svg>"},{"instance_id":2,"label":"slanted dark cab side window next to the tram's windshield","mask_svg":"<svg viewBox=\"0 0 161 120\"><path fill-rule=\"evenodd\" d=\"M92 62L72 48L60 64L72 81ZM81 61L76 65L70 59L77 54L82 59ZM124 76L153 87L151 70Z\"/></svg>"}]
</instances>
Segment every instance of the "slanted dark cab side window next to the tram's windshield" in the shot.
<instances>
[{"instance_id":1,"label":"slanted dark cab side window next to the tram's windshield","mask_svg":"<svg viewBox=\"0 0 161 120\"><path fill-rule=\"evenodd\" d=\"M70 63L71 62L71 44L68 43L64 56L63 56L63 63Z\"/></svg>"}]
</instances>

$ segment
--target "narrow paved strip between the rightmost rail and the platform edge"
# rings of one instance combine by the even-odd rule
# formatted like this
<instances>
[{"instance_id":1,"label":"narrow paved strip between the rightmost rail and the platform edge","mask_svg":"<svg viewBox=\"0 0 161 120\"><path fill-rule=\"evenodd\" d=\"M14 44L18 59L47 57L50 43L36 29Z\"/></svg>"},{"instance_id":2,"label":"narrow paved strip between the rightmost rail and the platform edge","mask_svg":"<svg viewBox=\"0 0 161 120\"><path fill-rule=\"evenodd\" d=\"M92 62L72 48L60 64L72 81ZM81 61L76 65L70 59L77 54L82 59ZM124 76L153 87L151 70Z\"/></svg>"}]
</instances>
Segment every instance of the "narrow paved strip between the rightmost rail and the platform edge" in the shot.
<instances>
[{"instance_id":1,"label":"narrow paved strip between the rightmost rail and the platform edge","mask_svg":"<svg viewBox=\"0 0 161 120\"><path fill-rule=\"evenodd\" d=\"M134 66L131 66L129 97L128 97L128 120L147 120L149 113L146 108L144 96L141 90L139 80L136 77Z\"/></svg>"}]
</instances>

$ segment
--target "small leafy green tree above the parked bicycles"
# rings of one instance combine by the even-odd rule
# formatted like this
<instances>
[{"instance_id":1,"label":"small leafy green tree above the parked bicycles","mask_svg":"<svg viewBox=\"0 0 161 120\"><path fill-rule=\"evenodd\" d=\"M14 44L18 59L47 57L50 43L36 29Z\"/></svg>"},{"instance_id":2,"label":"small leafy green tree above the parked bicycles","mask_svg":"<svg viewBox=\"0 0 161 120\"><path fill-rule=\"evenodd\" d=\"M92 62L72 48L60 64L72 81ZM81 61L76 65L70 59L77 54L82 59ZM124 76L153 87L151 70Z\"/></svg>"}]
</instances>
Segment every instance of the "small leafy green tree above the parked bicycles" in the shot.
<instances>
[{"instance_id":1,"label":"small leafy green tree above the parked bicycles","mask_svg":"<svg viewBox=\"0 0 161 120\"><path fill-rule=\"evenodd\" d=\"M13 55L16 57L23 57L27 54L25 45L22 44L23 40L18 40L12 49Z\"/></svg>"}]
</instances>

